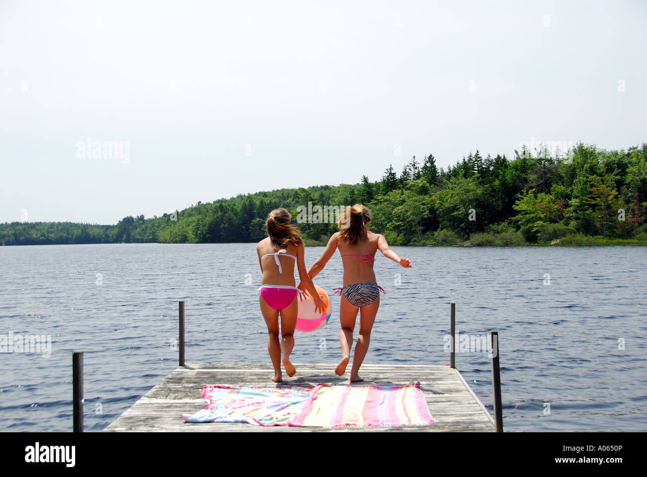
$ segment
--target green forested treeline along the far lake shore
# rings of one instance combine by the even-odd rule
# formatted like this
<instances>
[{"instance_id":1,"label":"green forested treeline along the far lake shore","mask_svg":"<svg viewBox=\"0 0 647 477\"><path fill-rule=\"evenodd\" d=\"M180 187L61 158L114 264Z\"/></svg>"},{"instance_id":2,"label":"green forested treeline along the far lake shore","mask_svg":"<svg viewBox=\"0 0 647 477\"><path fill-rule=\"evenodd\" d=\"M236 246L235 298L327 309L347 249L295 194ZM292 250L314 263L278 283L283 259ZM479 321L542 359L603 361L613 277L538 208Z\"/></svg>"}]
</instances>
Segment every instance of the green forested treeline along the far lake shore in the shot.
<instances>
[{"instance_id":1,"label":"green forested treeline along the far lake shore","mask_svg":"<svg viewBox=\"0 0 647 477\"><path fill-rule=\"evenodd\" d=\"M578 143L558 149L515 151L513 160L468 154L438 169L432 154L413 157L382 180L280 189L198 202L177 215L124 217L116 225L12 222L0 225L2 245L115 242L256 242L276 207L344 206L360 202L373 214L370 228L392 244L521 245L560 238L647 240L647 144L605 151ZM316 210L316 207L315 207ZM316 217L315 217L316 218ZM296 224L307 243L325 242L334 222Z\"/></svg>"}]
</instances>

